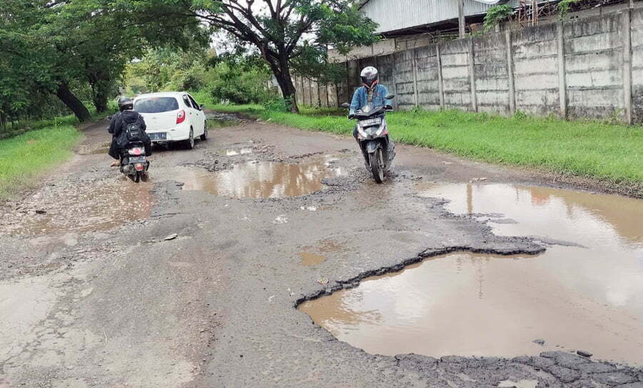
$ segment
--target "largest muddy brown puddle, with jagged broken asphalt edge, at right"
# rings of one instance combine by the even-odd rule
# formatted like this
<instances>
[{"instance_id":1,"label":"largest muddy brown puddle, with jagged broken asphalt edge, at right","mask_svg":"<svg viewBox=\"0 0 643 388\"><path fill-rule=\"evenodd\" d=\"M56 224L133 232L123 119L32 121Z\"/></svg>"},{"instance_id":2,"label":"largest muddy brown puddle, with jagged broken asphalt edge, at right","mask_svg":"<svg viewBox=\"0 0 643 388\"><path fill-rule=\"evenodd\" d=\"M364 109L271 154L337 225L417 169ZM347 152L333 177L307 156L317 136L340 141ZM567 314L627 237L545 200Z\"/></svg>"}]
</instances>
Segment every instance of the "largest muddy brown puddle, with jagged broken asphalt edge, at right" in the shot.
<instances>
[{"instance_id":1,"label":"largest muddy brown puddle, with jagged broken asphalt edge, at right","mask_svg":"<svg viewBox=\"0 0 643 388\"><path fill-rule=\"evenodd\" d=\"M643 201L507 184L417 189L449 199L454 213L489 220L496 234L585 248L426 259L301 304L316 324L373 354L514 357L584 349L596 359L643 364Z\"/></svg>"}]
</instances>

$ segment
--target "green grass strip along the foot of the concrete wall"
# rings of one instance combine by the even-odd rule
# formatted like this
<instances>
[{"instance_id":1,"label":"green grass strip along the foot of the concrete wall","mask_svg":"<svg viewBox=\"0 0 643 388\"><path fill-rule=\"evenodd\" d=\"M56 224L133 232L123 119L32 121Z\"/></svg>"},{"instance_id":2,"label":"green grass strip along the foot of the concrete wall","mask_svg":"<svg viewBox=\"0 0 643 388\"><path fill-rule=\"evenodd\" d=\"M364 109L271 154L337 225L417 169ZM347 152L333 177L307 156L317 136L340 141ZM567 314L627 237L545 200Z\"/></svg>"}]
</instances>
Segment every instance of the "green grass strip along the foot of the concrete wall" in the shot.
<instances>
[{"instance_id":1,"label":"green grass strip along the foot of the concrete wall","mask_svg":"<svg viewBox=\"0 0 643 388\"><path fill-rule=\"evenodd\" d=\"M226 106L214 109L228 110ZM289 114L257 113L256 106L234 106L234 111L334 134L351 134L354 125L344 114L338 116L337 109L304 108L301 114ZM469 159L595 179L612 189L643 197L641 126L525 116L507 119L456 110L392 112L387 120L391 136L402 143Z\"/></svg>"}]
</instances>

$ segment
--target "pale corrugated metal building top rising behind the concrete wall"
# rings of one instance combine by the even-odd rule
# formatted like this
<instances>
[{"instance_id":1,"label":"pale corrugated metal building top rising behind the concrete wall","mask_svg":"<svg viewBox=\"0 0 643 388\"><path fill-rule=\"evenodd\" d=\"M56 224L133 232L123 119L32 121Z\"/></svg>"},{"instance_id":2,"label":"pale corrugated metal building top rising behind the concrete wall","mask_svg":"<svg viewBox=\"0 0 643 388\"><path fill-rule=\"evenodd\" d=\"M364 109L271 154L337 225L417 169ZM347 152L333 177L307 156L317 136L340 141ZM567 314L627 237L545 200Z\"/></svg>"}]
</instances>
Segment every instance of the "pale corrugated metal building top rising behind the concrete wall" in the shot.
<instances>
[{"instance_id":1,"label":"pale corrugated metal building top rising behind the concrete wall","mask_svg":"<svg viewBox=\"0 0 643 388\"><path fill-rule=\"evenodd\" d=\"M518 0L464 0L464 14L484 14L505 3L518 6ZM377 33L440 24L458 17L457 0L362 0L361 4L364 14L379 24Z\"/></svg>"}]
</instances>

